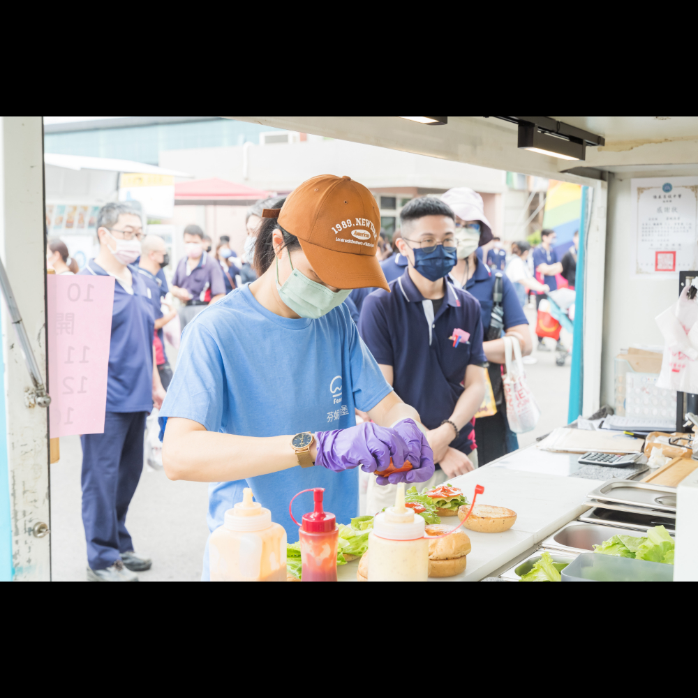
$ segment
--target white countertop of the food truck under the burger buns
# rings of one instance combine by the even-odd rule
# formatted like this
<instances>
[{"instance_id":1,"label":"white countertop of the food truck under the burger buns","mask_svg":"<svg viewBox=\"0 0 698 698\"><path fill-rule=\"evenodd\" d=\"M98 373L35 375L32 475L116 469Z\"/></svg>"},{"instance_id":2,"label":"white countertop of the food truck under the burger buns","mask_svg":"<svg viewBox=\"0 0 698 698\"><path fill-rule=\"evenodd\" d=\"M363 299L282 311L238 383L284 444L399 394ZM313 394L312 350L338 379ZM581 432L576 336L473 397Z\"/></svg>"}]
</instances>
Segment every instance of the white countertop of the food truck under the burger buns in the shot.
<instances>
[{"instance_id":1,"label":"white countertop of the food truck under the burger buns","mask_svg":"<svg viewBox=\"0 0 698 698\"><path fill-rule=\"evenodd\" d=\"M579 468L578 458L579 454L530 446L450 480L469 502L473 501L475 485L481 484L484 493L477 497L477 503L512 509L517 512L517 522L504 533L466 530L473 546L466 570L455 577L429 581L480 581L588 510L584 506L586 495L602 481L567 477ZM459 519L444 517L441 523L456 526ZM338 567L339 581L356 581L357 567L358 561Z\"/></svg>"}]
</instances>

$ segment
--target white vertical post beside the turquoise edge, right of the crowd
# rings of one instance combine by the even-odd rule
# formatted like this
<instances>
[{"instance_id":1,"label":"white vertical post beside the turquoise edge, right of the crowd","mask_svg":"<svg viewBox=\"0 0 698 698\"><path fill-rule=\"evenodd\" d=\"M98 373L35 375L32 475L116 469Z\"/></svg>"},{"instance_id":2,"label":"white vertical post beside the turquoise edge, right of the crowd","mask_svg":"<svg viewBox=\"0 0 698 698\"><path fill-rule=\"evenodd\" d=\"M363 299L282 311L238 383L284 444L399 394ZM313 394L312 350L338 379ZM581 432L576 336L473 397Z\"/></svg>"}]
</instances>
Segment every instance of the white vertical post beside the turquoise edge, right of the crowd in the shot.
<instances>
[{"instance_id":1,"label":"white vertical post beside the turquoise edge, right of the crowd","mask_svg":"<svg viewBox=\"0 0 698 698\"><path fill-rule=\"evenodd\" d=\"M584 260L584 383L582 414L600 407L601 341L604 318L604 273L606 269L606 211L608 185L597 181L593 188L591 220Z\"/></svg>"}]
</instances>

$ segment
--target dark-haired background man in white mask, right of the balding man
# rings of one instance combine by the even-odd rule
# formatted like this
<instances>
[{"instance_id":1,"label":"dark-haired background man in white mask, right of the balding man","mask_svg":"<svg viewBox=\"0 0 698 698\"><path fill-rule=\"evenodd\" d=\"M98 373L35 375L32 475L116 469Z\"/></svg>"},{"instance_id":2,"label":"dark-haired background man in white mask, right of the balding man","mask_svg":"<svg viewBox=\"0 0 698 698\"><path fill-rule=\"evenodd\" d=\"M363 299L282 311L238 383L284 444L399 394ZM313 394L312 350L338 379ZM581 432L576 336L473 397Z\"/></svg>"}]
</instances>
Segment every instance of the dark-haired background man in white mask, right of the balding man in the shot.
<instances>
[{"instance_id":1,"label":"dark-haired background man in white mask, right of the balding man","mask_svg":"<svg viewBox=\"0 0 698 698\"><path fill-rule=\"evenodd\" d=\"M207 305L206 292L210 290L210 303L225 297L225 280L218 261L204 249L204 231L198 225L184 228L186 255L179 260L172 276L172 295L184 303L179 312L181 329L191 322Z\"/></svg>"}]
</instances>

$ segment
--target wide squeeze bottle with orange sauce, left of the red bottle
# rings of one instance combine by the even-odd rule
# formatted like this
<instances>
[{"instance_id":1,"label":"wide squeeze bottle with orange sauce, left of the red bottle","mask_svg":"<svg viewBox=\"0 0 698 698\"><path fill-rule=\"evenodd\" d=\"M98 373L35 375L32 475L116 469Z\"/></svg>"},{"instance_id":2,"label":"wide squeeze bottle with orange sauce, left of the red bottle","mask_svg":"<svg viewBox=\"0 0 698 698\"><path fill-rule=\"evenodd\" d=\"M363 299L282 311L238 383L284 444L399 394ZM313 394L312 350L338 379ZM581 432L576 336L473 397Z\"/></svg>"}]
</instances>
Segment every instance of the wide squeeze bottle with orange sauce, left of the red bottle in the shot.
<instances>
[{"instance_id":1,"label":"wide squeeze bottle with orange sauce, left of the red bottle","mask_svg":"<svg viewBox=\"0 0 698 698\"><path fill-rule=\"evenodd\" d=\"M209 567L211 581L286 581L286 531L249 487L211 533Z\"/></svg>"}]
</instances>

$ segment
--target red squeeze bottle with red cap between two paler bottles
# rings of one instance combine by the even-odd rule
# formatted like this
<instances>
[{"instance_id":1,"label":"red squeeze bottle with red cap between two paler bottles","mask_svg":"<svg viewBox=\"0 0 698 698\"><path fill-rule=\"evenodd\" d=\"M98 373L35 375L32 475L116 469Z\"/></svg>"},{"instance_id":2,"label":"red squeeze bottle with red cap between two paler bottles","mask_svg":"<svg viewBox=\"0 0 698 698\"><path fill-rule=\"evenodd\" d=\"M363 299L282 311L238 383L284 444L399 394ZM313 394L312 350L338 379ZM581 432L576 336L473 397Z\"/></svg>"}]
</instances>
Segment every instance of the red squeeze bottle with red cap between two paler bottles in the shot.
<instances>
[{"instance_id":1,"label":"red squeeze bottle with red cap between two paler bottles","mask_svg":"<svg viewBox=\"0 0 698 698\"><path fill-rule=\"evenodd\" d=\"M322 510L324 487L313 487L315 510L304 514L299 530L302 581L337 581L339 528L334 514Z\"/></svg>"}]
</instances>

